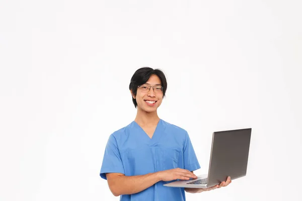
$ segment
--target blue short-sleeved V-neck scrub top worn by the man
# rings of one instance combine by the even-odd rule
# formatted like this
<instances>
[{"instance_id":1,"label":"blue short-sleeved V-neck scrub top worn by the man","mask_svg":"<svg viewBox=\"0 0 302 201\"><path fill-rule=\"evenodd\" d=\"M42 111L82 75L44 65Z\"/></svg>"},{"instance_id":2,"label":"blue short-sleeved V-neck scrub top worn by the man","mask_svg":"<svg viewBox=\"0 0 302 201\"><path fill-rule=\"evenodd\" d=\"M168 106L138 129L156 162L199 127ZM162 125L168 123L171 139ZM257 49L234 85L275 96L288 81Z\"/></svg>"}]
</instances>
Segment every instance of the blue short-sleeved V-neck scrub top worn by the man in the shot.
<instances>
[{"instance_id":1,"label":"blue short-sleeved V-neck scrub top worn by the man","mask_svg":"<svg viewBox=\"0 0 302 201\"><path fill-rule=\"evenodd\" d=\"M160 120L150 139L133 121L110 135L100 176L106 179L105 173L112 172L143 175L178 167L189 171L200 168L187 131ZM141 192L121 195L120 200L186 200L184 188L164 186L168 182L159 181Z\"/></svg>"}]
</instances>

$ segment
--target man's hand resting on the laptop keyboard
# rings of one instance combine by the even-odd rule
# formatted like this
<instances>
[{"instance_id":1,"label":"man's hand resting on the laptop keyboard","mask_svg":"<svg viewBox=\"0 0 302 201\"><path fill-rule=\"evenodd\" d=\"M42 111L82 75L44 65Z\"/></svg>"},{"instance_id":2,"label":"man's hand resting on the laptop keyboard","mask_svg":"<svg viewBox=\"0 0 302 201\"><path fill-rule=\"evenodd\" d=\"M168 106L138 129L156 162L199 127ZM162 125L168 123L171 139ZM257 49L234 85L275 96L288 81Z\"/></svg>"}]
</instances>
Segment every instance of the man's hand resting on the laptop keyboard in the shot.
<instances>
[{"instance_id":1,"label":"man's hand resting on the laptop keyboard","mask_svg":"<svg viewBox=\"0 0 302 201\"><path fill-rule=\"evenodd\" d=\"M190 178L197 178L197 176L189 170L181 168L159 171L158 176L162 181L172 181L175 179L189 180Z\"/></svg>"}]
</instances>

